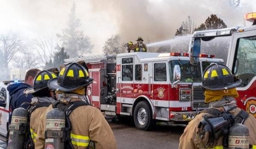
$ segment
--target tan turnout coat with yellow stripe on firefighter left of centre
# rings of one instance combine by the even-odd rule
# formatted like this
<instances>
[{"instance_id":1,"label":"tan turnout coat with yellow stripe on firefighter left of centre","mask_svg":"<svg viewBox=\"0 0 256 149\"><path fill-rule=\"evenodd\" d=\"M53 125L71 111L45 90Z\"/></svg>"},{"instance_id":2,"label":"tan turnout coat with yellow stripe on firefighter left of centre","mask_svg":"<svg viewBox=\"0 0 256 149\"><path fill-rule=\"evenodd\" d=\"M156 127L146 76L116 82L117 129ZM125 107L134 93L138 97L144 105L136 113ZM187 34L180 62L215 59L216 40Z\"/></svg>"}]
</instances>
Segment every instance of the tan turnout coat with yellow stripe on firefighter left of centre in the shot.
<instances>
[{"instance_id":1,"label":"tan turnout coat with yellow stripe on firefighter left of centre","mask_svg":"<svg viewBox=\"0 0 256 149\"><path fill-rule=\"evenodd\" d=\"M70 102L78 101L72 98ZM46 112L41 116L42 122L39 125L36 137L35 148L44 148L44 131L47 111L52 110L50 105ZM116 139L108 122L99 109L90 105L77 107L69 115L71 122L71 139L74 148L86 148L92 140L95 148L116 148Z\"/></svg>"}]
</instances>

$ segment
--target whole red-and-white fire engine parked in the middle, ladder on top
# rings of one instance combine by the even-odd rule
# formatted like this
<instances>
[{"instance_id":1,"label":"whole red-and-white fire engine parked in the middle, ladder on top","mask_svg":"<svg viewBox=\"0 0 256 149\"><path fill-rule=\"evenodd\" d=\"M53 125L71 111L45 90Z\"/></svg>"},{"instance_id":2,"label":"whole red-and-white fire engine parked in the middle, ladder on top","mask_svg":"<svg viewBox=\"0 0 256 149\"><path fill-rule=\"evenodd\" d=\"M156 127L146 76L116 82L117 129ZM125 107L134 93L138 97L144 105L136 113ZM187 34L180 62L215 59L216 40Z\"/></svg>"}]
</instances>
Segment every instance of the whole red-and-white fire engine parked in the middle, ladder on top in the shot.
<instances>
[{"instance_id":1,"label":"whole red-and-white fire engine parked in the middle, ladder on top","mask_svg":"<svg viewBox=\"0 0 256 149\"><path fill-rule=\"evenodd\" d=\"M187 123L204 103L202 73L211 63L223 63L202 54L191 65L188 53L122 53L66 59L85 61L93 84L87 96L106 115L131 116L138 129L149 130L156 121Z\"/></svg>"}]
</instances>

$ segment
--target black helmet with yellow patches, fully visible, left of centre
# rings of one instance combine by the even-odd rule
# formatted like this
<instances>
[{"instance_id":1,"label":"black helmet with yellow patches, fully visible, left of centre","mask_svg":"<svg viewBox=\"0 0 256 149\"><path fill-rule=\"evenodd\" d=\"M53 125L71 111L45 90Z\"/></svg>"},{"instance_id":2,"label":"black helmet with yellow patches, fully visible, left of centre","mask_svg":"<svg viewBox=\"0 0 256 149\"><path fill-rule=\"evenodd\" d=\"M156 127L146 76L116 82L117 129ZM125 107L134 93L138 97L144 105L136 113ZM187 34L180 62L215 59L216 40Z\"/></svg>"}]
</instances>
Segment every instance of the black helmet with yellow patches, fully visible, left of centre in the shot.
<instances>
[{"instance_id":1,"label":"black helmet with yellow patches, fully visible, left of centre","mask_svg":"<svg viewBox=\"0 0 256 149\"><path fill-rule=\"evenodd\" d=\"M70 92L93 82L87 70L78 63L69 63L60 71L58 78L48 82L48 87L62 92Z\"/></svg>"}]
</instances>

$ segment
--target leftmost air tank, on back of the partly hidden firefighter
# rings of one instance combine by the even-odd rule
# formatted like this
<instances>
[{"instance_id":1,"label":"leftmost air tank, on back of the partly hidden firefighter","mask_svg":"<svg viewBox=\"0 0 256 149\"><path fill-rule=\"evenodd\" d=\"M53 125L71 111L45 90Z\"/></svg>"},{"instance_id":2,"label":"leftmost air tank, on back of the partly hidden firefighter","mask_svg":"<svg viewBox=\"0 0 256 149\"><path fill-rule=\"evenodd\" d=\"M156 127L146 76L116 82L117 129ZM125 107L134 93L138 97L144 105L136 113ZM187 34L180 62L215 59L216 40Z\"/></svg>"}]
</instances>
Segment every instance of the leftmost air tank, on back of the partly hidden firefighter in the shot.
<instances>
[{"instance_id":1,"label":"leftmost air tank, on back of the partly hidden firefighter","mask_svg":"<svg viewBox=\"0 0 256 149\"><path fill-rule=\"evenodd\" d=\"M23 107L18 107L13 110L11 125L9 126L9 140L7 148L23 148L28 129L28 111Z\"/></svg>"}]
</instances>

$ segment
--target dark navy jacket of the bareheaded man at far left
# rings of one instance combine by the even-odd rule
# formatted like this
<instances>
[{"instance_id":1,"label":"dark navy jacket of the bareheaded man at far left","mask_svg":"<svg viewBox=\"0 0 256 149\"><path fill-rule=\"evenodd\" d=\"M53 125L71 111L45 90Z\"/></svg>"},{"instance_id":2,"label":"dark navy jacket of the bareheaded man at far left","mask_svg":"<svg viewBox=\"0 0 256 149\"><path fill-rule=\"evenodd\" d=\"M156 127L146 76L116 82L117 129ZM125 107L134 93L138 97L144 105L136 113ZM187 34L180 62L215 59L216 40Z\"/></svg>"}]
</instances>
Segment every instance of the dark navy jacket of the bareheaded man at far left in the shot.
<instances>
[{"instance_id":1,"label":"dark navy jacket of the bareheaded man at far left","mask_svg":"<svg viewBox=\"0 0 256 149\"><path fill-rule=\"evenodd\" d=\"M26 95L25 93L23 93L23 91L28 87L30 86L25 83L13 84L7 87L11 98L9 104L9 124L11 123L13 110L17 109L18 107L24 107L25 109L27 109L27 107L29 106L29 103L31 102L31 98L33 96L32 94ZM28 104L23 104L21 106L23 102L27 102Z\"/></svg>"}]
</instances>

